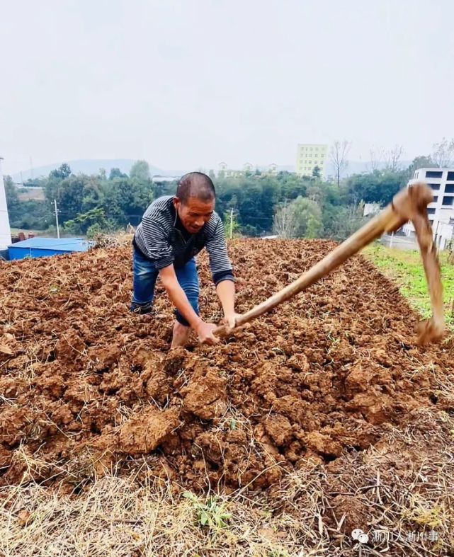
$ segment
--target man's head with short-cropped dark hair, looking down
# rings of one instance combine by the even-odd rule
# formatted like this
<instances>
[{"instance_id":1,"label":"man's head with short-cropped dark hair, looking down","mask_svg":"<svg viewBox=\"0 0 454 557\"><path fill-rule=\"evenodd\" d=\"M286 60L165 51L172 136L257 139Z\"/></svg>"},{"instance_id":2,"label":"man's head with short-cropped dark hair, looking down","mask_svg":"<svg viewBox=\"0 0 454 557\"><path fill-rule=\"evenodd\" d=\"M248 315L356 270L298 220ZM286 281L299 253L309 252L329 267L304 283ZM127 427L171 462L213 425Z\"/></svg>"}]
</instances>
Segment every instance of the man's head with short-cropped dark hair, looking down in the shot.
<instances>
[{"instance_id":1,"label":"man's head with short-cropped dark hair, looking down","mask_svg":"<svg viewBox=\"0 0 454 557\"><path fill-rule=\"evenodd\" d=\"M178 182L174 207L183 226L196 234L215 210L215 186L202 172L185 174Z\"/></svg>"}]
</instances>

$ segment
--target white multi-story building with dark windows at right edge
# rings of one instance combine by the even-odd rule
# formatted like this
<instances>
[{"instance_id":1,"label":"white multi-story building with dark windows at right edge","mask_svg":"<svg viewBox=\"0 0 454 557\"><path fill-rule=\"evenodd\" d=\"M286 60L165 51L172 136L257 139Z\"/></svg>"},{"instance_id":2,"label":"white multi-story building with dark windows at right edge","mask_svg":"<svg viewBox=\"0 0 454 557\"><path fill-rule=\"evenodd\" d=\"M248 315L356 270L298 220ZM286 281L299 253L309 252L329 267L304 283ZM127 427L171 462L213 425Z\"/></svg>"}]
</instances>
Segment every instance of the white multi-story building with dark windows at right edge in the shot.
<instances>
[{"instance_id":1,"label":"white multi-story building with dark windows at right edge","mask_svg":"<svg viewBox=\"0 0 454 557\"><path fill-rule=\"evenodd\" d=\"M454 168L418 168L409 185L426 182L432 188L433 202L427 207L436 246L443 250L454 240ZM414 226L408 222L404 234L415 236Z\"/></svg>"}]
</instances>

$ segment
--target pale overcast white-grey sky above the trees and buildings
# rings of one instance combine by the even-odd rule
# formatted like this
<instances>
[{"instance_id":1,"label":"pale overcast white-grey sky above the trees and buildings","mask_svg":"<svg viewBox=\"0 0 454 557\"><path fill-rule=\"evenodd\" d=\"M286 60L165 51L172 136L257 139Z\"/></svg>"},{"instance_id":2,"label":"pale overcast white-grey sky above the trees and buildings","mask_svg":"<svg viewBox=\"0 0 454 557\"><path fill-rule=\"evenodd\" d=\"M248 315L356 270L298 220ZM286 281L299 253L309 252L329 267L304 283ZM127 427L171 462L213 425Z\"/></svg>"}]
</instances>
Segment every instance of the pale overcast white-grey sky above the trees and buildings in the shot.
<instances>
[{"instance_id":1,"label":"pale overcast white-grey sky above the trees and buildings","mask_svg":"<svg viewBox=\"0 0 454 557\"><path fill-rule=\"evenodd\" d=\"M4 173L295 163L454 136L452 0L0 0Z\"/></svg>"}]
</instances>

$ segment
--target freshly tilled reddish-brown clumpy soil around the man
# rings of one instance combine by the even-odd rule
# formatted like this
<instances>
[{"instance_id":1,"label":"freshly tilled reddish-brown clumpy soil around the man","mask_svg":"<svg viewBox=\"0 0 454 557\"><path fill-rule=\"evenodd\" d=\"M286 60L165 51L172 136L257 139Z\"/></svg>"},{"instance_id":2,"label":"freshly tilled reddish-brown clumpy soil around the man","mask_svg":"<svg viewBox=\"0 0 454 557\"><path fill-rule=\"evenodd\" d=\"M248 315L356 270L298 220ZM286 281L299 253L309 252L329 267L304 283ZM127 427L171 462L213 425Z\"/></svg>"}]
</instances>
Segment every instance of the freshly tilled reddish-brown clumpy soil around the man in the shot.
<instances>
[{"instance_id":1,"label":"freshly tilled reddish-brown clumpy soil around the man","mask_svg":"<svg viewBox=\"0 0 454 557\"><path fill-rule=\"evenodd\" d=\"M234 241L237 311L334 247ZM222 318L200 256L200 306ZM453 343L416 346L418 317L361 256L215 347L169 352L172 310L128 311L130 248L0 268L0 485L79 485L147 470L194 489L266 488L380 440L412 411L452 411Z\"/></svg>"}]
</instances>

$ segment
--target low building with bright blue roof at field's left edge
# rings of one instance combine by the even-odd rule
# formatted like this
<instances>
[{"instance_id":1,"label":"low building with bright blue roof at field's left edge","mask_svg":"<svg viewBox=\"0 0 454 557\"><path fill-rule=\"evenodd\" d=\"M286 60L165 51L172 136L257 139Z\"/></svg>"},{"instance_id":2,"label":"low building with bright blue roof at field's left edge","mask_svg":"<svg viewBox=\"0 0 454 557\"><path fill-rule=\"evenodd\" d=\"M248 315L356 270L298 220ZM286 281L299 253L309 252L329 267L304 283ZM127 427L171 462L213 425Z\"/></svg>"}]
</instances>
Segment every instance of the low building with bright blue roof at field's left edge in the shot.
<instances>
[{"instance_id":1,"label":"low building with bright blue roof at field's left edge","mask_svg":"<svg viewBox=\"0 0 454 557\"><path fill-rule=\"evenodd\" d=\"M87 251L91 242L84 238L29 238L8 246L8 257L12 259L49 257L74 251Z\"/></svg>"}]
</instances>

